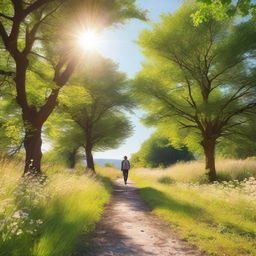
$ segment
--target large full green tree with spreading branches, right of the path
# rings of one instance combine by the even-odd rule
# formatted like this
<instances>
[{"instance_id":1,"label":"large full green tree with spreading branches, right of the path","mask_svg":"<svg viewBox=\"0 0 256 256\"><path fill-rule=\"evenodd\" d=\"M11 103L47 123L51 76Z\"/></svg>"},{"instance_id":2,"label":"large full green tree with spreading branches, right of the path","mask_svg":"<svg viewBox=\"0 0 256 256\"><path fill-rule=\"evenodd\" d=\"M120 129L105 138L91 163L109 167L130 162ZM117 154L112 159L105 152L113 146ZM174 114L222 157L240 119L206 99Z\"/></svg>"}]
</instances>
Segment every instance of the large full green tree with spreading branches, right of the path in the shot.
<instances>
[{"instance_id":1,"label":"large full green tree with spreading branches, right of the path","mask_svg":"<svg viewBox=\"0 0 256 256\"><path fill-rule=\"evenodd\" d=\"M142 33L147 63L134 91L149 112L147 123L165 130L173 143L202 147L212 181L216 144L255 114L255 44L248 35L256 31L250 22L210 20L195 27L190 17L196 8L184 5Z\"/></svg>"}]
</instances>

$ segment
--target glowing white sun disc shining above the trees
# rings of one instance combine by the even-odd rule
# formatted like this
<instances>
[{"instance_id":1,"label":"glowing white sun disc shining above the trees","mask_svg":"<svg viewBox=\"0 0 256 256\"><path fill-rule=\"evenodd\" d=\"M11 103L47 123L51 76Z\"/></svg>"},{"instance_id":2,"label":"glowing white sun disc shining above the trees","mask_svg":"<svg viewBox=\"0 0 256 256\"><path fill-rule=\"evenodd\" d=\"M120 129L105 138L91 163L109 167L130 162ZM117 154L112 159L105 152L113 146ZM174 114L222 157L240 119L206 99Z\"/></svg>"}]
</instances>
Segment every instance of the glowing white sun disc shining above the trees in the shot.
<instances>
[{"instance_id":1,"label":"glowing white sun disc shining above the trees","mask_svg":"<svg viewBox=\"0 0 256 256\"><path fill-rule=\"evenodd\" d=\"M77 36L78 44L85 50L96 50L100 46L100 37L94 30L84 30Z\"/></svg>"}]
</instances>

